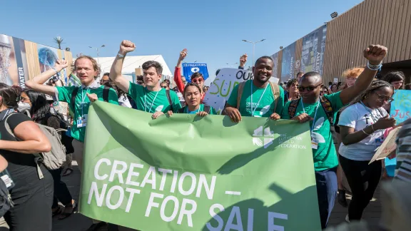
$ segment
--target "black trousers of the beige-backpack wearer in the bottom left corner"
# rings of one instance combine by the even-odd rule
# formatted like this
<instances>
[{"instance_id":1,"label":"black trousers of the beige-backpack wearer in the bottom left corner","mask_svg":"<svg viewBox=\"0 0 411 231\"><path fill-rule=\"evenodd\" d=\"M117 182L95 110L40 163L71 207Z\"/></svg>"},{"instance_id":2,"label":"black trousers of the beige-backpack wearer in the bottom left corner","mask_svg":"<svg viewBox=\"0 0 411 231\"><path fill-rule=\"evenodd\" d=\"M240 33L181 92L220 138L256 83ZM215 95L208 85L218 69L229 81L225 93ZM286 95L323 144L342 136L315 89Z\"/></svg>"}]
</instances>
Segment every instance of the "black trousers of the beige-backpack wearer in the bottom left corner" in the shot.
<instances>
[{"instance_id":1,"label":"black trousers of the beige-backpack wearer in the bottom left corner","mask_svg":"<svg viewBox=\"0 0 411 231\"><path fill-rule=\"evenodd\" d=\"M36 168L29 175L13 178L16 186L11 189L14 202L4 219L10 230L51 231L51 202L53 201L53 178L49 171L41 166L43 179L39 179Z\"/></svg>"}]
</instances>

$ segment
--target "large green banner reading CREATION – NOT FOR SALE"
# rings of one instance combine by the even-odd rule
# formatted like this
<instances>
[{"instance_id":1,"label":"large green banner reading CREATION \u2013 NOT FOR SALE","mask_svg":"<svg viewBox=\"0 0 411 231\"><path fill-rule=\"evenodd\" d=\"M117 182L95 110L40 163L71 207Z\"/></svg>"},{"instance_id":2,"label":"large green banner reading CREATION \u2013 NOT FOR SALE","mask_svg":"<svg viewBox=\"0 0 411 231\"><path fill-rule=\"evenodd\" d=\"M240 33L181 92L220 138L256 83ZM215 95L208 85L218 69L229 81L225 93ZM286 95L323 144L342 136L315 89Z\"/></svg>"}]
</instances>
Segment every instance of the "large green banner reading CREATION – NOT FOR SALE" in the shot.
<instances>
[{"instance_id":1,"label":"large green banner reading CREATION \u2013 NOT FOR SALE","mask_svg":"<svg viewBox=\"0 0 411 231\"><path fill-rule=\"evenodd\" d=\"M320 230L308 123L88 112L81 213L143 231Z\"/></svg>"}]
</instances>

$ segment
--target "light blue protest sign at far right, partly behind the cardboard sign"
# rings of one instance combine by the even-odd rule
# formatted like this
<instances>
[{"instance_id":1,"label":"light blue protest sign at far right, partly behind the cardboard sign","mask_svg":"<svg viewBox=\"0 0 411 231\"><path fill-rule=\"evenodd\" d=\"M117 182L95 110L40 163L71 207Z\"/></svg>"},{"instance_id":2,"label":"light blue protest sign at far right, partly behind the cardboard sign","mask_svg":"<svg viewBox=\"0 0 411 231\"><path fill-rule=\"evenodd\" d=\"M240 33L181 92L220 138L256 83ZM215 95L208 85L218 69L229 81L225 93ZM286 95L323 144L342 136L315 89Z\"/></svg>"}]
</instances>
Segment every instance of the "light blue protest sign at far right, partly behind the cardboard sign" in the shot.
<instances>
[{"instance_id":1,"label":"light blue protest sign at far right, partly behind the cardboard sign","mask_svg":"<svg viewBox=\"0 0 411 231\"><path fill-rule=\"evenodd\" d=\"M409 90L396 90L394 93L394 101L391 103L390 116L397 120L397 124L404 122L411 118L411 91ZM397 165L397 158L391 160L385 158L385 169L387 175L393 177L395 175L395 166Z\"/></svg>"}]
</instances>

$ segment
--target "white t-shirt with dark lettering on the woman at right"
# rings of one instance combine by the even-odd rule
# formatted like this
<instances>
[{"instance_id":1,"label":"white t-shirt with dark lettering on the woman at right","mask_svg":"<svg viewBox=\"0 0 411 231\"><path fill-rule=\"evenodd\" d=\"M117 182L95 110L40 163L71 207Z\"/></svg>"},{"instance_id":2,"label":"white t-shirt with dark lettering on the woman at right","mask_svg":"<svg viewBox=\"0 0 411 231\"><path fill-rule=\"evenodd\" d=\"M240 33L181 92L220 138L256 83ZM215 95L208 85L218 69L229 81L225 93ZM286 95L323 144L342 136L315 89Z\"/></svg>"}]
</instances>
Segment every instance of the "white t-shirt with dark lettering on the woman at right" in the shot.
<instances>
[{"instance_id":1,"label":"white t-shirt with dark lettering on the woman at right","mask_svg":"<svg viewBox=\"0 0 411 231\"><path fill-rule=\"evenodd\" d=\"M355 131L362 130L377 122L378 119L387 116L383 108L371 109L362 103L355 103L342 111L338 125L354 128ZM340 155L350 160L371 160L375 150L384 141L385 129L376 130L367 138L358 143L340 145Z\"/></svg>"}]
</instances>

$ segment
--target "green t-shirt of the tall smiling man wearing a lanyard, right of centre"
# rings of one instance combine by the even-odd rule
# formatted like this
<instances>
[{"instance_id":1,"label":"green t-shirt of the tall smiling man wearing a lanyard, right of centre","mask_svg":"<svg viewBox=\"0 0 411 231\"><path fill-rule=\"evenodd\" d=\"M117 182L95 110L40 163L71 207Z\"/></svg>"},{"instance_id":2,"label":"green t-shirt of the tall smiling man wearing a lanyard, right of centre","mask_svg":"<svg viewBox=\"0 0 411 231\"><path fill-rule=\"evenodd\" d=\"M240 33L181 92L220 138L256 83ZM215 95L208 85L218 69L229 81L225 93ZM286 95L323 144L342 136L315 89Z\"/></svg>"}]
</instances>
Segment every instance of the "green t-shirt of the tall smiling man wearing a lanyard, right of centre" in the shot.
<instances>
[{"instance_id":1,"label":"green t-shirt of the tall smiling man wearing a lanyard, right of centre","mask_svg":"<svg viewBox=\"0 0 411 231\"><path fill-rule=\"evenodd\" d=\"M273 91L271 91L270 84L267 85L267 88L258 88L253 84L253 103L251 104L251 84L252 80L245 82L243 88L243 94L241 95L240 100L240 114L241 116L252 116L251 115L251 106L253 106L254 117L270 117L274 113L275 101L273 96ZM284 90L280 88L280 98L278 99L277 108L275 113L281 115L284 107ZM264 91L265 90L265 91ZM264 96L261 95L264 93ZM228 98L227 103L230 106L237 107L237 97L238 97L238 85L233 88L231 91L230 98ZM261 98L261 99L260 99ZM259 101L259 102L258 102ZM258 104L258 105L257 105ZM255 110L254 110L255 108Z\"/></svg>"}]
</instances>

